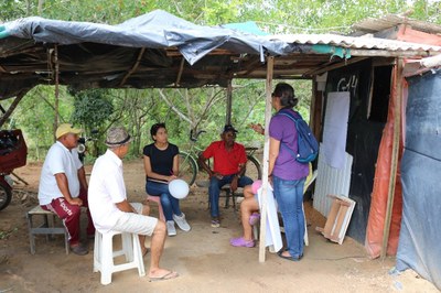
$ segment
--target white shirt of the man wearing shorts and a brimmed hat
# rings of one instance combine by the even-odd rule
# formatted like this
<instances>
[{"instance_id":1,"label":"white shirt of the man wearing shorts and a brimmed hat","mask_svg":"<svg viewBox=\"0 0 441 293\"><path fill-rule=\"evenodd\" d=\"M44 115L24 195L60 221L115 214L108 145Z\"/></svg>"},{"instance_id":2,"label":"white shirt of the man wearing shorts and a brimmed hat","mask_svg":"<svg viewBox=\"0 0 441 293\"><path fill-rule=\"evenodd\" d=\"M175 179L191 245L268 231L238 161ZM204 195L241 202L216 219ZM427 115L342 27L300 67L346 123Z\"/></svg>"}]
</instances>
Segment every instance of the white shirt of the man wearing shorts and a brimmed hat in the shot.
<instances>
[{"instance_id":1,"label":"white shirt of the man wearing shorts and a brimmed hat","mask_svg":"<svg viewBox=\"0 0 441 293\"><path fill-rule=\"evenodd\" d=\"M126 186L122 176L122 161L107 150L94 164L89 180L88 203L95 228L107 232L115 227L123 211L116 204L123 202Z\"/></svg>"}]
</instances>

